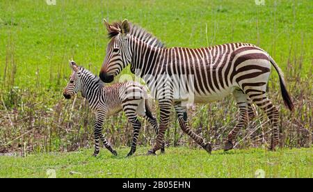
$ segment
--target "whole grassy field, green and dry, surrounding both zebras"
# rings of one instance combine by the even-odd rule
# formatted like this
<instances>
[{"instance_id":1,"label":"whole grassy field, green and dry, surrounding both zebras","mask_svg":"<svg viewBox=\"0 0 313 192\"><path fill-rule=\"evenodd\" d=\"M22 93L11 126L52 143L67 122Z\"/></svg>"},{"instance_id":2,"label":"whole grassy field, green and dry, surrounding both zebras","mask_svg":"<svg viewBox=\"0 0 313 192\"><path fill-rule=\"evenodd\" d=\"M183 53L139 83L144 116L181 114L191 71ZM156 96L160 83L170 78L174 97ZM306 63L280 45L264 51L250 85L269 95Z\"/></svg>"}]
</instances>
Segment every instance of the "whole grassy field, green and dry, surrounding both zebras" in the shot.
<instances>
[{"instance_id":1,"label":"whole grassy field, green and dry, surrounding both zebras","mask_svg":"<svg viewBox=\"0 0 313 192\"><path fill-rule=\"evenodd\" d=\"M0 155L31 154L0 157L0 177L46 177L49 168L56 169L57 177L254 177L258 168L266 177L312 177L313 3L255 2L56 0L48 5L45 0L0 0ZM125 159L127 147L118 157L104 150L90 157L91 149L83 149L93 146L93 114L80 96L68 101L62 93L69 59L99 73L108 43L103 18L127 18L167 47L249 42L268 51L282 68L296 106L293 113L284 108L273 72L268 95L280 108L282 150L246 150L269 143L271 126L257 111L258 118L236 140L235 148L243 150L219 151L238 118L230 96L188 109L193 130L214 145L211 156L182 133L173 113L166 155ZM143 125L137 154L154 143L153 131ZM106 120L104 134L116 147L131 144L132 129L122 113Z\"/></svg>"}]
</instances>

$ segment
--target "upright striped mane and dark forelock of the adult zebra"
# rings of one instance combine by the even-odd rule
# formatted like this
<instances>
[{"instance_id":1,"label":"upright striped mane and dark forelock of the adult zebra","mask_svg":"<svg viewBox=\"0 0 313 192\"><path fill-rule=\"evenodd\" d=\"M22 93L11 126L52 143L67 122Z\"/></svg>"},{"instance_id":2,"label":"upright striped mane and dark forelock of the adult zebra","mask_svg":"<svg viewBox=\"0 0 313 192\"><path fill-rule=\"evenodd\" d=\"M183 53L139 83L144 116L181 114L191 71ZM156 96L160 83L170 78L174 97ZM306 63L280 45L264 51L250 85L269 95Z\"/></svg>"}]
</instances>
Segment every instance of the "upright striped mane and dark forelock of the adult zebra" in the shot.
<instances>
[{"instance_id":1,"label":"upright striped mane and dark forelock of the adult zebra","mask_svg":"<svg viewBox=\"0 0 313 192\"><path fill-rule=\"evenodd\" d=\"M122 22L114 22L111 24L111 26L114 26L116 29L122 29ZM108 36L109 38L113 38L116 35L118 35L120 31L111 31L109 32ZM138 38L139 40L142 40L143 42L147 43L148 45L152 47L157 47L157 48L165 48L166 46L156 38L154 35L151 33L147 32L145 29L143 29L141 26L138 26L136 24L132 24L129 22L129 34L133 35L134 37Z\"/></svg>"}]
</instances>

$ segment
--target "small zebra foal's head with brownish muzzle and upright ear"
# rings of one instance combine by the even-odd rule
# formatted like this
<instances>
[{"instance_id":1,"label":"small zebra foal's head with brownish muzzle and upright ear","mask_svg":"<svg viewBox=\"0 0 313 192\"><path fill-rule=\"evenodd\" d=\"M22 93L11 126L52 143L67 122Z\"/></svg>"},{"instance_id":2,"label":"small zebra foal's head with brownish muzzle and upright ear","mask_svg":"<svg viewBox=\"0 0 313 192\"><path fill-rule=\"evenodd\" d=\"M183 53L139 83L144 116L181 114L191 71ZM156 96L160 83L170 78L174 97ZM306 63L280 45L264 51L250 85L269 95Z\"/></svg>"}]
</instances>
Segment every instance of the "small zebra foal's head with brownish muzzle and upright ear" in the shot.
<instances>
[{"instance_id":1,"label":"small zebra foal's head with brownish muzzle and upright ear","mask_svg":"<svg viewBox=\"0 0 313 192\"><path fill-rule=\"evenodd\" d=\"M70 81L64 88L63 96L65 99L70 99L81 90L81 67L79 67L74 61L70 61L70 67L72 68L72 74L70 76Z\"/></svg>"}]
</instances>

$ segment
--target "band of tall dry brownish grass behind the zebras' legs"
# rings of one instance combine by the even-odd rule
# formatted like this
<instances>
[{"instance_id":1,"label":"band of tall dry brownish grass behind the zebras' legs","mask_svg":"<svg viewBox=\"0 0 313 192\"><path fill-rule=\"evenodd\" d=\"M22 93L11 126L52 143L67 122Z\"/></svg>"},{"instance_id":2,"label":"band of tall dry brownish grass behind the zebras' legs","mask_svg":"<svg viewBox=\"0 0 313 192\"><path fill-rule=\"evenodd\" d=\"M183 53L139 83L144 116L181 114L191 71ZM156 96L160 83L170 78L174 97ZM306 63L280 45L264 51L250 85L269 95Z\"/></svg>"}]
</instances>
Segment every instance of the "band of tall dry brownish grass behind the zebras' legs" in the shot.
<instances>
[{"instance_id":1,"label":"band of tall dry brownish grass behind the zebras' legs","mask_svg":"<svg viewBox=\"0 0 313 192\"><path fill-rule=\"evenodd\" d=\"M280 146L310 147L313 127L312 79L288 79L296 106L292 113L282 106L277 79L272 78L269 84L269 95L280 106ZM55 102L54 106L47 107L51 102ZM0 152L24 152L24 145L27 152L72 151L93 146L94 116L80 95L68 101L63 99L61 92L38 93L36 90L13 87L2 94L0 113ZM271 126L264 113L259 110L257 113L257 118L250 122L248 128L241 130L237 148L268 144ZM188 113L193 130L211 141L215 149L221 148L237 118L231 95L220 102L192 106ZM106 120L104 134L115 146L131 143L132 129L122 113ZM154 137L151 127L143 122L139 145L151 145ZM175 113L166 133L166 143L196 147L175 122Z\"/></svg>"}]
</instances>

